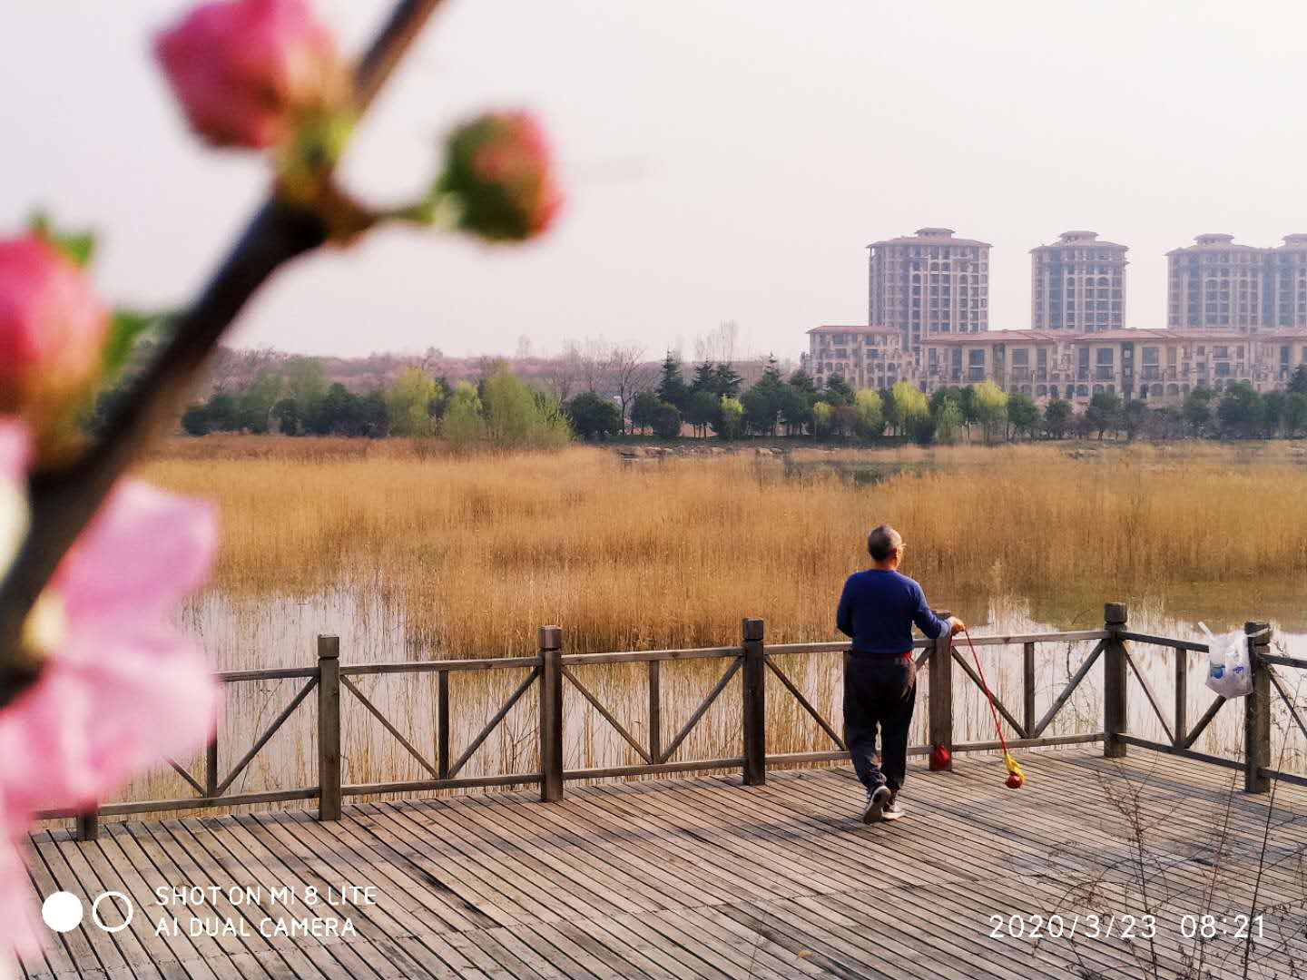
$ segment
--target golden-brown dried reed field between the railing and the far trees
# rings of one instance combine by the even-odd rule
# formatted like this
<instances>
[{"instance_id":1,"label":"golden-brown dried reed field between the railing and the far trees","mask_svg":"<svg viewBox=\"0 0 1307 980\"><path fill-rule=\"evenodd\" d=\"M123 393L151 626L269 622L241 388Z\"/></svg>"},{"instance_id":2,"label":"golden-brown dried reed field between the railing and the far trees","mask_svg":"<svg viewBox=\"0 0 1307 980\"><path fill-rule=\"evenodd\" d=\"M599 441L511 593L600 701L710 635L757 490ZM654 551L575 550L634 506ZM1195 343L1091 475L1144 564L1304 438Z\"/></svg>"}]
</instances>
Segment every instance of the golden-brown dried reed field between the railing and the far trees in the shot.
<instances>
[{"instance_id":1,"label":"golden-brown dried reed field between the railing and the far trees","mask_svg":"<svg viewBox=\"0 0 1307 980\"><path fill-rule=\"evenodd\" d=\"M744 615L772 640L826 639L880 521L903 531L932 602L963 613L1233 581L1256 601L1307 571L1298 453L1080 443L623 463L588 447L420 457L397 440L225 438L169 443L144 474L218 504L213 589L366 591L406 610L410 647L460 657L520 652L541 623L574 651L731 643Z\"/></svg>"}]
</instances>

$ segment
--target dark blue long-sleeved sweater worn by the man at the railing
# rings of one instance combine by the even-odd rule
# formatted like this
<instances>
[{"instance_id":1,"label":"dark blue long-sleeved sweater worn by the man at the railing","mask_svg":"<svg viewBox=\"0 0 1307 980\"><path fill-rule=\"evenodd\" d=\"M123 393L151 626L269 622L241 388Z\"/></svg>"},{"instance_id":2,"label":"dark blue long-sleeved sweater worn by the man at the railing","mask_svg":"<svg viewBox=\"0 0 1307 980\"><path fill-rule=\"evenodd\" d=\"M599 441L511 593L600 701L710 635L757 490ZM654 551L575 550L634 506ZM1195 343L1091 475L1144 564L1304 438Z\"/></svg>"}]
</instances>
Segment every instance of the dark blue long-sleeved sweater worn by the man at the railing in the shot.
<instances>
[{"instance_id":1,"label":"dark blue long-sleeved sweater worn by the man at the railing","mask_svg":"<svg viewBox=\"0 0 1307 980\"><path fill-rule=\"evenodd\" d=\"M912 623L932 640L945 630L916 581L887 568L868 568L848 576L835 626L853 639L855 653L907 653L912 649Z\"/></svg>"}]
</instances>

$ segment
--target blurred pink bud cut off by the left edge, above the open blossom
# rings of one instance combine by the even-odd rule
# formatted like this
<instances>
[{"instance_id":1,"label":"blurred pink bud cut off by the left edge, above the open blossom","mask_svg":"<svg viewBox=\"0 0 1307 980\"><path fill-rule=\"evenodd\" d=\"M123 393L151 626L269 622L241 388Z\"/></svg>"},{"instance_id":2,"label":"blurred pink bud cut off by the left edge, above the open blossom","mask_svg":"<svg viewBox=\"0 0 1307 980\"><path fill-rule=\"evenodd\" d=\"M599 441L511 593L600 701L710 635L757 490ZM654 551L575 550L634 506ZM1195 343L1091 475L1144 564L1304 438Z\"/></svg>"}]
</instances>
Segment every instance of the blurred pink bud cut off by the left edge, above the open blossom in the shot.
<instances>
[{"instance_id":1,"label":"blurred pink bud cut off by the left edge, above the open blossom","mask_svg":"<svg viewBox=\"0 0 1307 980\"><path fill-rule=\"evenodd\" d=\"M0 416L50 446L99 378L108 311L72 261L37 237L0 240Z\"/></svg>"}]
</instances>

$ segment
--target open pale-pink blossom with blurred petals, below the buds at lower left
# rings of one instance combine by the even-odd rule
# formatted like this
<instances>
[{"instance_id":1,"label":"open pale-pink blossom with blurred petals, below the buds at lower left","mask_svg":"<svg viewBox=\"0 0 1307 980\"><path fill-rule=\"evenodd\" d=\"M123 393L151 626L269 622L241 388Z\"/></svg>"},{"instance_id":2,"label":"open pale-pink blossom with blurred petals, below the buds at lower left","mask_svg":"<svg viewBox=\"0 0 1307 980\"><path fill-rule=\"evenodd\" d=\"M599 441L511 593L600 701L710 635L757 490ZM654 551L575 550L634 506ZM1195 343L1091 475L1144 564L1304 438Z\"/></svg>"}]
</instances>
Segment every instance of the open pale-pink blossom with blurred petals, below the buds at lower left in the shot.
<instances>
[{"instance_id":1,"label":"open pale-pink blossom with blurred petals, below the buds at lower left","mask_svg":"<svg viewBox=\"0 0 1307 980\"><path fill-rule=\"evenodd\" d=\"M0 426L0 480L21 460ZM0 710L0 950L33 951L13 847L39 809L82 808L213 730L203 653L167 623L216 545L210 508L122 482L59 566L24 627L38 681Z\"/></svg>"}]
</instances>

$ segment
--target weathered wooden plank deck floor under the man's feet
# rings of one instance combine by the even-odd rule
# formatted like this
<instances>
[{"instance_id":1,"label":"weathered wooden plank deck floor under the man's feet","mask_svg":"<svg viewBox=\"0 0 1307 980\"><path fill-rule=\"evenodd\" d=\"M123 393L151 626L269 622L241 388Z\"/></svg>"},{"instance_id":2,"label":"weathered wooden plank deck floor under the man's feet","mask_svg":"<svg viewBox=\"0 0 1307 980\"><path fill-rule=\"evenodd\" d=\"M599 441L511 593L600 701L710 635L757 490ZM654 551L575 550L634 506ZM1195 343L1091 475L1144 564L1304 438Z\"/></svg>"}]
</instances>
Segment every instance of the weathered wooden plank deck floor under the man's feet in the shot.
<instances>
[{"instance_id":1,"label":"weathered wooden plank deck floor under the man's feet","mask_svg":"<svg viewBox=\"0 0 1307 980\"><path fill-rule=\"evenodd\" d=\"M1270 806L1231 792L1234 772L1131 751L1121 763L1097 747L1027 753L1018 792L993 757L953 774L914 762L910 815L872 827L852 819L851 771L806 770L750 788L735 775L569 787L552 805L529 793L369 804L325 825L305 811L119 823L85 844L41 831L38 900L119 891L135 912L118 932L88 917L51 933L26 972L1302 976L1307 793L1281 787ZM1249 949L1231 933L1255 892L1263 937ZM111 929L124 923L119 899L99 911ZM1063 934L1031 938L1034 917L1053 913ZM1204 913L1216 934L1183 936L1183 916Z\"/></svg>"}]
</instances>

